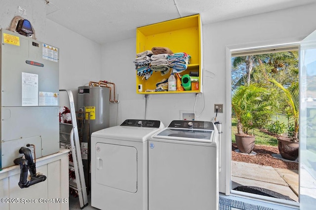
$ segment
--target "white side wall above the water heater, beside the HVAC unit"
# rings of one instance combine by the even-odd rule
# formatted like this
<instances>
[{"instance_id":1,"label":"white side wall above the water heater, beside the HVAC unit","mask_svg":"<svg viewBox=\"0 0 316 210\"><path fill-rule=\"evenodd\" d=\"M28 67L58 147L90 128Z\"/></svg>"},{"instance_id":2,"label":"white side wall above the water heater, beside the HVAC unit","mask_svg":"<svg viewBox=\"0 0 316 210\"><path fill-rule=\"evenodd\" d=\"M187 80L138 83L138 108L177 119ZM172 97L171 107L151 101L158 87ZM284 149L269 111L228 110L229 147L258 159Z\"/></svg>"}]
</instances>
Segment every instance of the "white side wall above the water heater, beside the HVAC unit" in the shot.
<instances>
[{"instance_id":1,"label":"white side wall above the water heater, beside the HVAC unit","mask_svg":"<svg viewBox=\"0 0 316 210\"><path fill-rule=\"evenodd\" d=\"M78 87L99 81L101 46L48 19L45 42L59 48L59 88L72 90L77 109ZM60 92L60 106L67 103L67 93Z\"/></svg>"}]
</instances>

